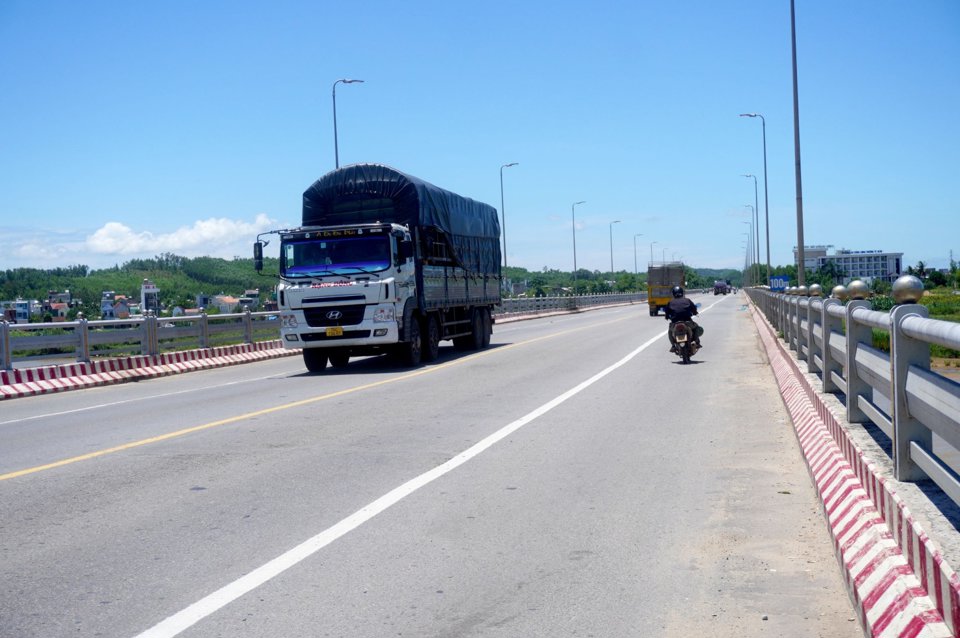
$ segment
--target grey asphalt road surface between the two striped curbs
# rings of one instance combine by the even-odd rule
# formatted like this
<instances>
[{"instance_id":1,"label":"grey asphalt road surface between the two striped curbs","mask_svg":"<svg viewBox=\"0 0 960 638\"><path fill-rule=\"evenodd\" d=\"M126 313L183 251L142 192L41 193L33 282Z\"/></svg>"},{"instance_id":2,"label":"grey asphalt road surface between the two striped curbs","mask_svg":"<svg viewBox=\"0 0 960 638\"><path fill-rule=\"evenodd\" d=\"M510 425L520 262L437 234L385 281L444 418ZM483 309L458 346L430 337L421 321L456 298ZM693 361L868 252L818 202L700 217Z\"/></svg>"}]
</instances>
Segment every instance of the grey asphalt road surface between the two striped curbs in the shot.
<instances>
[{"instance_id":1,"label":"grey asphalt road surface between the two striped curbs","mask_svg":"<svg viewBox=\"0 0 960 638\"><path fill-rule=\"evenodd\" d=\"M862 636L740 297L0 403L0 636Z\"/></svg>"}]
</instances>

